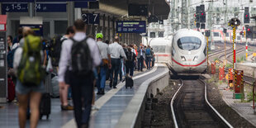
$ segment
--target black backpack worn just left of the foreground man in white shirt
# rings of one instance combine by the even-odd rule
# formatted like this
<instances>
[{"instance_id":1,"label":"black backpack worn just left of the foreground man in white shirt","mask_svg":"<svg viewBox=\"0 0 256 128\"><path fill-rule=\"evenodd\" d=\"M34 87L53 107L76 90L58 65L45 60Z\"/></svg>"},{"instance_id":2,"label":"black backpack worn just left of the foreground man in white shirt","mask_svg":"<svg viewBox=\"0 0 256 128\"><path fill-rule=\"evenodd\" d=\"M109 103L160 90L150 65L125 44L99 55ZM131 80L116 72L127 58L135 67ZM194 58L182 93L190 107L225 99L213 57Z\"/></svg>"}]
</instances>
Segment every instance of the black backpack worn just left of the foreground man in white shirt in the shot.
<instances>
[{"instance_id":1,"label":"black backpack worn just left of the foreground man in white shirt","mask_svg":"<svg viewBox=\"0 0 256 128\"><path fill-rule=\"evenodd\" d=\"M55 67L59 66L59 59L60 59L60 52L61 52L61 45L64 40L61 40L62 36L56 36L52 40L50 40L49 44L49 55L51 59L51 64Z\"/></svg>"}]
</instances>

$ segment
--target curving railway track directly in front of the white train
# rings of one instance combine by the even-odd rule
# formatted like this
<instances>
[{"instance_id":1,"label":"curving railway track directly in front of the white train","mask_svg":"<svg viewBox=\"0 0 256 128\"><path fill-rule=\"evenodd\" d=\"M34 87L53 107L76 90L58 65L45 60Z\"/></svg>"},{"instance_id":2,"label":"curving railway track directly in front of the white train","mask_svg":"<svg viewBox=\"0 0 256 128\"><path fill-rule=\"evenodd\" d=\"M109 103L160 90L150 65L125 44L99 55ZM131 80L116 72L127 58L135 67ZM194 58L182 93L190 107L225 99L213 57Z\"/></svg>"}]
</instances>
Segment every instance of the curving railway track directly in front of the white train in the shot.
<instances>
[{"instance_id":1,"label":"curving railway track directly in front of the white train","mask_svg":"<svg viewBox=\"0 0 256 128\"><path fill-rule=\"evenodd\" d=\"M233 127L208 102L206 90L200 79L182 81L170 104L175 128Z\"/></svg>"}]
</instances>

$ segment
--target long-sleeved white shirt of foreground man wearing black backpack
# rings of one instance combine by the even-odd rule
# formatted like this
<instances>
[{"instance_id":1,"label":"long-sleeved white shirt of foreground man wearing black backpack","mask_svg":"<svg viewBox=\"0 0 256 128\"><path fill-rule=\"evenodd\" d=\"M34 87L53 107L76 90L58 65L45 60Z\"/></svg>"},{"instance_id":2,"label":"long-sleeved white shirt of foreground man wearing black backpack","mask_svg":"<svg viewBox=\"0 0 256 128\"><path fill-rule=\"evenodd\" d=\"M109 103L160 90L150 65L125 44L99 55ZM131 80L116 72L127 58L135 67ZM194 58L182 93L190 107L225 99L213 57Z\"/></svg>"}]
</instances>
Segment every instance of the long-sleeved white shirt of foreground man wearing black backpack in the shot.
<instances>
[{"instance_id":1,"label":"long-sleeved white shirt of foreground man wearing black backpack","mask_svg":"<svg viewBox=\"0 0 256 128\"><path fill-rule=\"evenodd\" d=\"M73 36L73 40L81 41L86 38L85 33L83 32L77 32ZM88 39L88 46L89 49L91 50L91 56L92 56L92 66L97 67L99 64L102 62L101 55L99 53L99 50L97 48L97 44L95 40L93 39ZM64 74L66 72L67 66L71 62L71 49L72 49L73 41L68 39L64 40L61 46L61 54L60 54L60 59L59 59L59 82L64 82ZM72 68L69 67L69 70Z\"/></svg>"}]
</instances>

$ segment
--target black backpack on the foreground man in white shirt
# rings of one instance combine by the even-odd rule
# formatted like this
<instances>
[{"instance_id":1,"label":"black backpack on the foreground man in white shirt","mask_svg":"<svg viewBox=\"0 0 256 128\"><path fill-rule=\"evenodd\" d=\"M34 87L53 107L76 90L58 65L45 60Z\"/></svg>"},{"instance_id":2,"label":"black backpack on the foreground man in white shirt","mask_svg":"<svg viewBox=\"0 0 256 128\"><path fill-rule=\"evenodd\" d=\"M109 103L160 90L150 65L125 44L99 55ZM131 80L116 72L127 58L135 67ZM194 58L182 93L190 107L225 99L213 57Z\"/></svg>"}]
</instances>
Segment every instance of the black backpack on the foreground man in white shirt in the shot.
<instances>
[{"instance_id":1,"label":"black backpack on the foreground man in white shirt","mask_svg":"<svg viewBox=\"0 0 256 128\"><path fill-rule=\"evenodd\" d=\"M73 40L73 38L70 40ZM78 77L92 73L92 57L87 40L88 37L81 41L73 40L71 66L72 72L77 74Z\"/></svg>"}]
</instances>

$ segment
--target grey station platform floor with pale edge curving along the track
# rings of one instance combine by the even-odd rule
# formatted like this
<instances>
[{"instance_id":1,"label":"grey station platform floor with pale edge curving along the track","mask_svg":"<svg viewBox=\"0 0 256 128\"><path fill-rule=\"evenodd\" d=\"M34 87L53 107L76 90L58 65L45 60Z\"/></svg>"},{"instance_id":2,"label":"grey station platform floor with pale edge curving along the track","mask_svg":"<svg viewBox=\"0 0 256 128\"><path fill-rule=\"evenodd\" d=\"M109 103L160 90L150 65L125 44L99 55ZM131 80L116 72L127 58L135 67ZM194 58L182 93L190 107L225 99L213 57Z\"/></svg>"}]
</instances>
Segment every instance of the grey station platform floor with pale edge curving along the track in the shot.
<instances>
[{"instance_id":1,"label":"grey station platform floor with pale edge curving along the track","mask_svg":"<svg viewBox=\"0 0 256 128\"><path fill-rule=\"evenodd\" d=\"M116 89L112 89L107 84L105 95L102 96L96 94L96 89L95 105L99 110L92 111L90 127L111 128L135 125L135 119L140 111L140 106L145 98L149 83L163 75L163 73L168 73L168 67L165 64L156 64L154 69L135 73L133 88L126 88L125 83L120 82ZM1 103L0 106L2 106L2 109L0 108L0 127L18 127L17 103ZM38 128L70 128L75 126L73 111L61 111L59 98L52 98L51 100L49 120L43 117L43 120L39 121L38 124ZM26 127L29 127L29 121L27 121Z\"/></svg>"}]
</instances>

